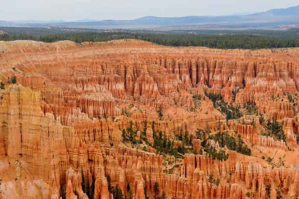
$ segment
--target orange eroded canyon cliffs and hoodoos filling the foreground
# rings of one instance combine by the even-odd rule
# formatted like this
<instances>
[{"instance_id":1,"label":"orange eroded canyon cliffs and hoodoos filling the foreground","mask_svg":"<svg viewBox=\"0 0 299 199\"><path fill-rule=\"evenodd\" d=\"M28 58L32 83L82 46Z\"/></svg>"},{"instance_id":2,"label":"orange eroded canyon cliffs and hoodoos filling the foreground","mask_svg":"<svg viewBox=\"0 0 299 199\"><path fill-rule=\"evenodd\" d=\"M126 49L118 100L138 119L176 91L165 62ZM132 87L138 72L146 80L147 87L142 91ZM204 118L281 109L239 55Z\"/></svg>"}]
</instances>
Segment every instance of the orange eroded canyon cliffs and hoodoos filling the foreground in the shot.
<instances>
[{"instance_id":1,"label":"orange eroded canyon cliffs and hoodoos filling the foreground","mask_svg":"<svg viewBox=\"0 0 299 199\"><path fill-rule=\"evenodd\" d=\"M297 48L14 41L2 51L0 198L112 199L111 186L133 199L299 196ZM244 116L229 119L228 105ZM222 133L250 155L212 140Z\"/></svg>"}]
</instances>

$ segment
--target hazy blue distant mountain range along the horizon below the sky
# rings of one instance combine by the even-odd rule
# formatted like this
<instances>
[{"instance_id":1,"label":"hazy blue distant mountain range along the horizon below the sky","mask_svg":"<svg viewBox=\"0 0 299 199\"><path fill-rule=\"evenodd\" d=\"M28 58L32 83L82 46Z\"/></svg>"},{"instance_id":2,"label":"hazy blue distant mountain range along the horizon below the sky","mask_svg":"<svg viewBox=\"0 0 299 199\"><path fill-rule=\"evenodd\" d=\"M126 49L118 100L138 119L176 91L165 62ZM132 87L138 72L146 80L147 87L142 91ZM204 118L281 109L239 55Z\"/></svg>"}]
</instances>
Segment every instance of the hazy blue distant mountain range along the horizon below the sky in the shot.
<instances>
[{"instance_id":1,"label":"hazy blue distant mountain range along the horizon below the sky","mask_svg":"<svg viewBox=\"0 0 299 199\"><path fill-rule=\"evenodd\" d=\"M289 8L272 9L254 14L227 16L186 16L154 17L147 16L135 20L90 20L74 22L51 21L0 21L2 27L59 27L59 28L273 28L299 24L299 5Z\"/></svg>"}]
</instances>

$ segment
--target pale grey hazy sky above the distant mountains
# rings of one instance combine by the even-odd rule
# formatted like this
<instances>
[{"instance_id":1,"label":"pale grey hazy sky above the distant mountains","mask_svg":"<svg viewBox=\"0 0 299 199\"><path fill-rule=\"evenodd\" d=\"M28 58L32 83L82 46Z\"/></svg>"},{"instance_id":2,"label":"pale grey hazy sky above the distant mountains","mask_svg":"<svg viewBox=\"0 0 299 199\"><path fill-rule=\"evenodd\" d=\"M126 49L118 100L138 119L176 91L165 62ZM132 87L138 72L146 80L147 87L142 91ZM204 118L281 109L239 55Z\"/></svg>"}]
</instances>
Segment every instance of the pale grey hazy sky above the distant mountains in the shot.
<instances>
[{"instance_id":1,"label":"pale grey hazy sky above the distant mountains","mask_svg":"<svg viewBox=\"0 0 299 199\"><path fill-rule=\"evenodd\" d=\"M295 5L299 5L299 0L0 0L0 20L226 15Z\"/></svg>"}]
</instances>

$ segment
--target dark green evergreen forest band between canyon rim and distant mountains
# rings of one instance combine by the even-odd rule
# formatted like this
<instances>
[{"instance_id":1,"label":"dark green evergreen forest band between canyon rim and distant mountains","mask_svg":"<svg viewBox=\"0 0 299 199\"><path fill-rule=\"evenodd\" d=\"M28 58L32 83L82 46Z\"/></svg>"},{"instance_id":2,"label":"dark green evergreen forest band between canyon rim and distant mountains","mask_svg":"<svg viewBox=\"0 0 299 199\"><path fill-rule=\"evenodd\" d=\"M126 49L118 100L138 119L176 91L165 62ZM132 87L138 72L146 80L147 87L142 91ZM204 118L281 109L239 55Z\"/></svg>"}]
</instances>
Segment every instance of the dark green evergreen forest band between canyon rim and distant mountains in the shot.
<instances>
[{"instance_id":1,"label":"dark green evergreen forest band between canyon rim and distant mountains","mask_svg":"<svg viewBox=\"0 0 299 199\"><path fill-rule=\"evenodd\" d=\"M261 49L299 47L299 30L98 30L81 28L0 27L0 40L56 42L71 40L99 42L115 39L140 39L166 46L203 46L220 49Z\"/></svg>"}]
</instances>

